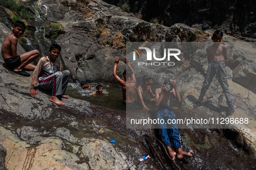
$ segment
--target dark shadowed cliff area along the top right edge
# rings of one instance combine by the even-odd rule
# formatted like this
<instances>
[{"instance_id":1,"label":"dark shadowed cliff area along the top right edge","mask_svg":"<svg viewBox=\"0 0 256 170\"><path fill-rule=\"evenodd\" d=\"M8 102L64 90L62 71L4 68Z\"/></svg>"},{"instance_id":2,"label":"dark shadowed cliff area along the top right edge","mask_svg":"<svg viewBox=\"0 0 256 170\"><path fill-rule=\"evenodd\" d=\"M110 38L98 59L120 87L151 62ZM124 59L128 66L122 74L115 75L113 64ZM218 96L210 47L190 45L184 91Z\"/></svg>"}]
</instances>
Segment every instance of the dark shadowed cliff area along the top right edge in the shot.
<instances>
[{"instance_id":1,"label":"dark shadowed cliff area along the top right edge","mask_svg":"<svg viewBox=\"0 0 256 170\"><path fill-rule=\"evenodd\" d=\"M130 11L143 19L166 26L184 23L194 28L221 29L247 41L255 41L254 0L107 0L117 6L129 4Z\"/></svg>"}]
</instances>

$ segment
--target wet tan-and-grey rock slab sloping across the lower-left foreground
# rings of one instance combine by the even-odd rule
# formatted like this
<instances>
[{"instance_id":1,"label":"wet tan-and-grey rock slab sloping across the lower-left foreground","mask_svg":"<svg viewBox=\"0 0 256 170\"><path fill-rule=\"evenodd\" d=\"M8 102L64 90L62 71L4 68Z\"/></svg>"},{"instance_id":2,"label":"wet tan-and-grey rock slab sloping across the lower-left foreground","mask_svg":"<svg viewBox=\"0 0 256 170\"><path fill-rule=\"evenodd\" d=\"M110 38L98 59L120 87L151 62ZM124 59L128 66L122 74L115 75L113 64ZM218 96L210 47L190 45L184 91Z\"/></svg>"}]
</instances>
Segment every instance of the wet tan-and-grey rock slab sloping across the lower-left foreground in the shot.
<instances>
[{"instance_id":1,"label":"wet tan-and-grey rock slab sloping across the lower-left foreground","mask_svg":"<svg viewBox=\"0 0 256 170\"><path fill-rule=\"evenodd\" d=\"M6 150L6 169L87 170L110 165L111 169L137 169L139 164L158 169L153 160L138 162L139 157L150 153L127 132L124 112L100 109L74 98L62 99L66 105L59 107L49 101L50 95L41 88L32 98L31 78L18 76L3 65L0 144ZM117 143L110 143L112 139Z\"/></svg>"}]
</instances>

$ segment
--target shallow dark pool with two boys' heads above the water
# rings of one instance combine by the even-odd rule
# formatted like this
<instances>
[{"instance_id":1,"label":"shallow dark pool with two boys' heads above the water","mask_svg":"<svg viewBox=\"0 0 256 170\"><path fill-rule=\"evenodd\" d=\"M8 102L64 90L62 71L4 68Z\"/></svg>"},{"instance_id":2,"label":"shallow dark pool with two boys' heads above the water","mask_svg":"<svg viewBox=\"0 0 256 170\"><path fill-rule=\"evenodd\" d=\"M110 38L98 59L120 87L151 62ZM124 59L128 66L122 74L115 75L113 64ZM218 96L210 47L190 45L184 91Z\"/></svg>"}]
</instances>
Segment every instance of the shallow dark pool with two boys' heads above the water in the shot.
<instances>
[{"instance_id":1,"label":"shallow dark pool with two boys' heads above the water","mask_svg":"<svg viewBox=\"0 0 256 170\"><path fill-rule=\"evenodd\" d=\"M87 83L91 86L91 90L82 89L79 82L68 83L65 94L68 94L72 98L89 101L99 106L108 107L115 110L125 110L123 105L123 94L121 87L113 87L110 85L102 85L104 94L93 95L92 92L96 91L97 83Z\"/></svg>"}]
</instances>

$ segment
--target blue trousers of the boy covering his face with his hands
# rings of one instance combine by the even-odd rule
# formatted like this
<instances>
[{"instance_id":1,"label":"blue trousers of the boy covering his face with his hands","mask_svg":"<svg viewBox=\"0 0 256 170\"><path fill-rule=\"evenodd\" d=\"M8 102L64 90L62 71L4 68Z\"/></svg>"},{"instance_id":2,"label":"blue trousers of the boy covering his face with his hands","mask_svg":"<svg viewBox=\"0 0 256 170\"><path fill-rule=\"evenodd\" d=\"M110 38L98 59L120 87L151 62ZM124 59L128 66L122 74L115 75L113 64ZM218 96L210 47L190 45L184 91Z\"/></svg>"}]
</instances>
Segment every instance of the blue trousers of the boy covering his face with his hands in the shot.
<instances>
[{"instance_id":1,"label":"blue trousers of the boy covering his face with his hands","mask_svg":"<svg viewBox=\"0 0 256 170\"><path fill-rule=\"evenodd\" d=\"M172 124L172 120L176 120L176 116L173 113L171 107L169 106L159 106L156 108L156 118L159 120L165 120L165 123L159 124L160 135L162 136L162 140L165 146L174 147L175 150L181 148L181 140L180 134L178 132L177 124ZM167 122L169 120L169 123ZM176 122L176 121L175 121ZM172 145L171 145L172 143Z\"/></svg>"}]
</instances>

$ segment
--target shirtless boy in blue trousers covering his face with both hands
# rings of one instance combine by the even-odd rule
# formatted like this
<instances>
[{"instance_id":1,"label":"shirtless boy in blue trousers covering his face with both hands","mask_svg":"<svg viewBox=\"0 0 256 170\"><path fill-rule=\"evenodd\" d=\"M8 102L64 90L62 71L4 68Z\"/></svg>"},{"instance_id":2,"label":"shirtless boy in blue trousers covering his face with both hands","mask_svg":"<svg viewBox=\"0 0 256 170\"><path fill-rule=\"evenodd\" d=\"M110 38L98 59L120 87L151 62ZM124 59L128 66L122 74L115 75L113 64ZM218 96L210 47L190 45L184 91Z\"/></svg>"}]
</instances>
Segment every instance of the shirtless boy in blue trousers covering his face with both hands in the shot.
<instances>
[{"instance_id":1,"label":"shirtless boy in blue trousers covering his face with both hands","mask_svg":"<svg viewBox=\"0 0 256 170\"><path fill-rule=\"evenodd\" d=\"M169 106L170 99L174 97L176 101L181 102L181 97L178 92L176 81L172 78L166 78L164 82L164 87L156 88L156 118L159 120L165 120L165 123L168 120L176 120L176 116L172 111L172 108ZM169 121L172 122L172 121ZM160 126L160 135L162 140L167 147L169 155L172 157L172 160L175 160L176 152L172 150L172 146L177 151L177 158L189 158L192 157L194 152L189 151L185 152L181 148L181 141L179 138L178 127L176 124L159 124ZM167 129L168 128L168 129ZM171 145L172 143L172 145Z\"/></svg>"}]
</instances>

